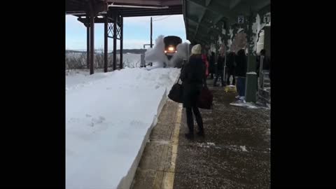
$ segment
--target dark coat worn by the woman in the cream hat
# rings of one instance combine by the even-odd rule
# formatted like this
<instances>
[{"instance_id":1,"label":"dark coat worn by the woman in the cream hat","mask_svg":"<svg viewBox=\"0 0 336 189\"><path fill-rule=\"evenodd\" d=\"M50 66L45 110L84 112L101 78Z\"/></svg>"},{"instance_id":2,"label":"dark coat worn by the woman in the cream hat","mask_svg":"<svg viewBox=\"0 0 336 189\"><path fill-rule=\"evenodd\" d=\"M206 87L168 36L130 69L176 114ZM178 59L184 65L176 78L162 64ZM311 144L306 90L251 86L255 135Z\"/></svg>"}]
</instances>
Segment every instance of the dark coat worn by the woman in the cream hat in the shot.
<instances>
[{"instance_id":1,"label":"dark coat worn by the woman in the cream hat","mask_svg":"<svg viewBox=\"0 0 336 189\"><path fill-rule=\"evenodd\" d=\"M205 65L200 55L192 55L181 71L183 81L183 107L196 106L197 99L206 80Z\"/></svg>"}]
</instances>

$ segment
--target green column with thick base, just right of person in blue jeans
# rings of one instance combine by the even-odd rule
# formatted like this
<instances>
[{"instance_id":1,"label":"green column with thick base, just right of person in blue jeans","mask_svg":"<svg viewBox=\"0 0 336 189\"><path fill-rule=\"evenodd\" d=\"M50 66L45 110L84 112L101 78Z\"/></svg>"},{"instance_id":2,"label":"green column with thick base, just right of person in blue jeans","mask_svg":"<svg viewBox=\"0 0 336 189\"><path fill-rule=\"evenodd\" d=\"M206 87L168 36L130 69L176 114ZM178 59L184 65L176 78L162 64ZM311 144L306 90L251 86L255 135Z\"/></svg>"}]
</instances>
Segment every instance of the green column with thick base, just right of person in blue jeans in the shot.
<instances>
[{"instance_id":1,"label":"green column with thick base, just right of person in blue jeans","mask_svg":"<svg viewBox=\"0 0 336 189\"><path fill-rule=\"evenodd\" d=\"M246 73L246 87L245 87L245 98L246 102L256 101L257 92L257 73L255 73L255 55L253 55L253 13L251 11L250 17L248 19L248 64Z\"/></svg>"}]
</instances>

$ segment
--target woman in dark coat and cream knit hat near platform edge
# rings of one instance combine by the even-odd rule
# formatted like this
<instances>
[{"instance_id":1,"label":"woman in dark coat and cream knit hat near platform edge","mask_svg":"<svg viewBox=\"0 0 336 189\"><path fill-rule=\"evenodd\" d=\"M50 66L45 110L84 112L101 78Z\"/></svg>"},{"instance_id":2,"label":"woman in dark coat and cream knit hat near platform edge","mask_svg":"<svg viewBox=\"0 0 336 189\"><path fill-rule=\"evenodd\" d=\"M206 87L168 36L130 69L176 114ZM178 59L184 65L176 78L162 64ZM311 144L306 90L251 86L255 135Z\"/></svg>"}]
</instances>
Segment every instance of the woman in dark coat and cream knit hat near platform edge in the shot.
<instances>
[{"instance_id":1,"label":"woman in dark coat and cream knit hat near platform edge","mask_svg":"<svg viewBox=\"0 0 336 189\"><path fill-rule=\"evenodd\" d=\"M186 108L187 124L189 133L186 134L188 139L194 137L194 120L193 112L195 114L196 122L199 127L198 135L204 136L203 120L200 110L197 107L197 100L200 97L203 83L206 82L205 65L201 57L201 45L194 45L188 64L183 67L181 71L181 80L183 81L183 107Z\"/></svg>"}]
</instances>

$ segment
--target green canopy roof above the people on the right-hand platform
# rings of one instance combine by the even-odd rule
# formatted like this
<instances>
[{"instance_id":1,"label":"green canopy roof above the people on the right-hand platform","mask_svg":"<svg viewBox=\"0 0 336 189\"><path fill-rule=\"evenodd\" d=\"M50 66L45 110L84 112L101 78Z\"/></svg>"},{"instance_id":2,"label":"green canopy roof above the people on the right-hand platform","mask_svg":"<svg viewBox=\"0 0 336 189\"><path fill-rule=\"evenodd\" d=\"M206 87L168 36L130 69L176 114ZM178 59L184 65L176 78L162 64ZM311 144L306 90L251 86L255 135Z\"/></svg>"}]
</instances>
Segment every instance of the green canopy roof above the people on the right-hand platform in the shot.
<instances>
[{"instance_id":1,"label":"green canopy roof above the people on the right-hand platform","mask_svg":"<svg viewBox=\"0 0 336 189\"><path fill-rule=\"evenodd\" d=\"M228 27L237 23L239 15L250 15L270 10L270 0L183 0L186 36L192 43L210 41L214 25L223 21Z\"/></svg>"}]
</instances>

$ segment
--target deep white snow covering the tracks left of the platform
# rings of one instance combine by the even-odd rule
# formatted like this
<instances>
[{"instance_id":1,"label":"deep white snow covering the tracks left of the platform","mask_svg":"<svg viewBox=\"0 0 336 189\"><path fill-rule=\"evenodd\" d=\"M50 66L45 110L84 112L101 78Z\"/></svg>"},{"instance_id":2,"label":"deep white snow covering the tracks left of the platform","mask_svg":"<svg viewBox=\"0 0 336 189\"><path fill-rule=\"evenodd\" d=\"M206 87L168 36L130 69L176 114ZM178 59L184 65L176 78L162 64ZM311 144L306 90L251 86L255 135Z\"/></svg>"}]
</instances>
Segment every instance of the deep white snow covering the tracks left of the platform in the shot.
<instances>
[{"instance_id":1,"label":"deep white snow covering the tracks left of the platform","mask_svg":"<svg viewBox=\"0 0 336 189\"><path fill-rule=\"evenodd\" d=\"M179 69L66 76L66 188L117 188Z\"/></svg>"}]
</instances>

